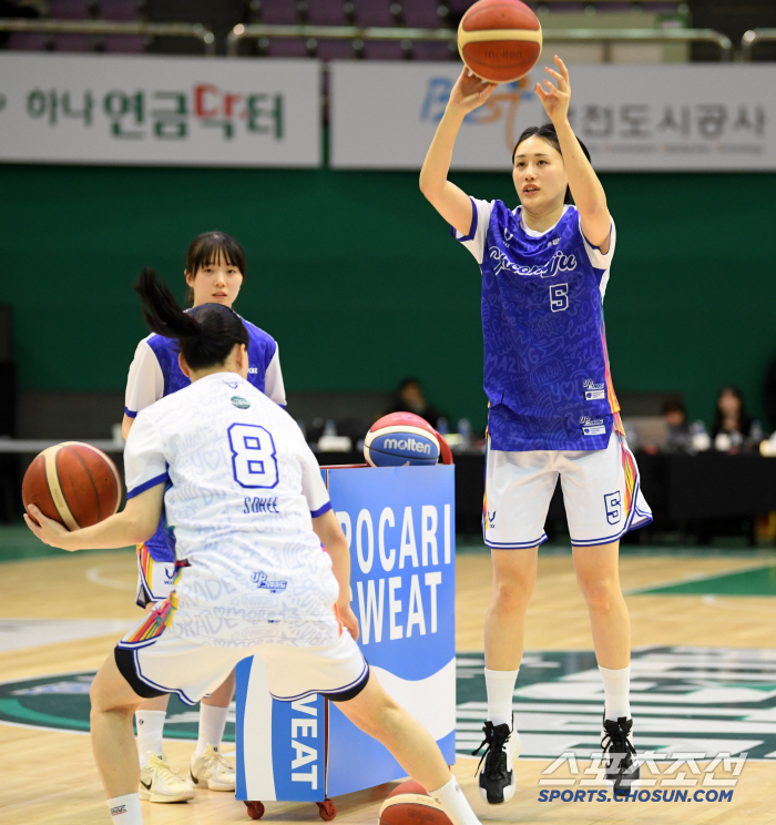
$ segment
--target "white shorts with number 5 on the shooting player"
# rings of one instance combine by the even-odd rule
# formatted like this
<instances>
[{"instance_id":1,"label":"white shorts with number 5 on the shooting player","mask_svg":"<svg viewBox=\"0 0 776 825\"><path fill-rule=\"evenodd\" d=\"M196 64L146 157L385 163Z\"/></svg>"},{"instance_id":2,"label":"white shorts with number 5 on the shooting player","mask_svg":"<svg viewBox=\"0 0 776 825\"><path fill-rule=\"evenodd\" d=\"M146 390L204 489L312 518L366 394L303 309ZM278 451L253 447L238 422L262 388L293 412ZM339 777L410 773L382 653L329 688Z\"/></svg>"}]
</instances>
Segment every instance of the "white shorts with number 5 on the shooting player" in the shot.
<instances>
[{"instance_id":1,"label":"white shorts with number 5 on the shooting player","mask_svg":"<svg viewBox=\"0 0 776 825\"><path fill-rule=\"evenodd\" d=\"M607 544L652 521L639 468L624 436L612 431L605 450L491 450L486 457L484 543L496 549L537 547L560 476L574 547Z\"/></svg>"}]
</instances>

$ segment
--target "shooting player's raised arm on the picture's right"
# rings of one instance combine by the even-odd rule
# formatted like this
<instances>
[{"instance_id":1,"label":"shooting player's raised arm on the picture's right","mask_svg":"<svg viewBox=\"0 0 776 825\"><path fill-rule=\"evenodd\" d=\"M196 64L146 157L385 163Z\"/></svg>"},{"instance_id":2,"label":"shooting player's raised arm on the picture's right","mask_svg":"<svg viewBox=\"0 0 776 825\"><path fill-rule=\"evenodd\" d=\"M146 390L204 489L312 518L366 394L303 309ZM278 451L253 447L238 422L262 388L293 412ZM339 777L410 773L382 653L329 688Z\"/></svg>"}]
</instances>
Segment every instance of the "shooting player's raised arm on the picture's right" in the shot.
<instances>
[{"instance_id":1,"label":"shooting player's raised arm on the picture's right","mask_svg":"<svg viewBox=\"0 0 776 825\"><path fill-rule=\"evenodd\" d=\"M558 81L558 85L544 79L542 82L545 88L537 83L534 91L558 132L569 186L580 213L582 232L591 244L601 247L601 252L605 254L609 251L609 234L612 227L612 216L606 207L606 194L569 124L569 102L571 101L569 70L557 54L555 64L558 71L547 67L544 71Z\"/></svg>"}]
</instances>

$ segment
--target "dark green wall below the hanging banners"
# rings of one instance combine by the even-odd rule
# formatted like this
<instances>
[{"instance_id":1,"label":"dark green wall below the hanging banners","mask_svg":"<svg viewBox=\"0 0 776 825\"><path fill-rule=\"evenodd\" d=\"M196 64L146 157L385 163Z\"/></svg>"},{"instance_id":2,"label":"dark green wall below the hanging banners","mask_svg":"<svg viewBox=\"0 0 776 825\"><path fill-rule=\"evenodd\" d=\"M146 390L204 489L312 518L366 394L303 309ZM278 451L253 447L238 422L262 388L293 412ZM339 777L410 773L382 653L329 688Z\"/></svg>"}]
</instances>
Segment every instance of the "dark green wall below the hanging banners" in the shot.
<instances>
[{"instance_id":1,"label":"dark green wall below the hanging banners","mask_svg":"<svg viewBox=\"0 0 776 825\"><path fill-rule=\"evenodd\" d=\"M738 383L760 414L776 175L602 180L619 235L605 302L615 387L684 390L708 419L718 387ZM456 181L515 200L508 174ZM280 343L290 394L413 374L452 418L484 422L477 265L415 173L0 165L0 226L23 388L123 388L145 334L134 277L153 265L183 298L188 243L219 228L245 246L236 308Z\"/></svg>"}]
</instances>

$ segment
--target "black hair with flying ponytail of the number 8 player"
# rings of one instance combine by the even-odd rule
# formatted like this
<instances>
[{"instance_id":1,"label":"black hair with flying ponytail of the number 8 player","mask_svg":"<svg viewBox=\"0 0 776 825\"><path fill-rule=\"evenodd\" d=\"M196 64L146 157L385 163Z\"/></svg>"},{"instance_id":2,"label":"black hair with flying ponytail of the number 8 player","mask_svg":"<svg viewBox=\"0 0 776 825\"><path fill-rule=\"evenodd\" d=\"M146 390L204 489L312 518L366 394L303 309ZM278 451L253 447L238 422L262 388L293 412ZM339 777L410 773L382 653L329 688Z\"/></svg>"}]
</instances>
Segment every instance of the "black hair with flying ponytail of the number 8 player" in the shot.
<instances>
[{"instance_id":1,"label":"black hair with flying ponytail of the number 8 player","mask_svg":"<svg viewBox=\"0 0 776 825\"><path fill-rule=\"evenodd\" d=\"M134 291L143 302L149 329L176 338L183 359L192 369L223 364L235 344L248 346L248 330L239 316L222 304L202 304L184 313L170 287L146 266Z\"/></svg>"}]
</instances>

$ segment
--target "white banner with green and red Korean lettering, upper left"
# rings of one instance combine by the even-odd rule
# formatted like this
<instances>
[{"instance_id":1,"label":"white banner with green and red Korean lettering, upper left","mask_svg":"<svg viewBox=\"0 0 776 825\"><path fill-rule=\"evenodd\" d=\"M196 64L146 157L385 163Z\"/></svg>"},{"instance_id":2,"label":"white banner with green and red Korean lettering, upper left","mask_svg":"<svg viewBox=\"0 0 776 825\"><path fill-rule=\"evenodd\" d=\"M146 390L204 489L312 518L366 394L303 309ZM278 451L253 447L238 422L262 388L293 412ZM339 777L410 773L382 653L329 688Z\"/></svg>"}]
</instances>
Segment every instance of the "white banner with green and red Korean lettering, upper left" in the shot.
<instances>
[{"instance_id":1,"label":"white banner with green and red Korean lettering, upper left","mask_svg":"<svg viewBox=\"0 0 776 825\"><path fill-rule=\"evenodd\" d=\"M319 166L316 60L0 54L0 161Z\"/></svg>"}]
</instances>

